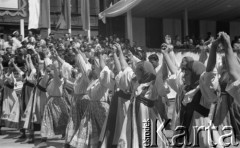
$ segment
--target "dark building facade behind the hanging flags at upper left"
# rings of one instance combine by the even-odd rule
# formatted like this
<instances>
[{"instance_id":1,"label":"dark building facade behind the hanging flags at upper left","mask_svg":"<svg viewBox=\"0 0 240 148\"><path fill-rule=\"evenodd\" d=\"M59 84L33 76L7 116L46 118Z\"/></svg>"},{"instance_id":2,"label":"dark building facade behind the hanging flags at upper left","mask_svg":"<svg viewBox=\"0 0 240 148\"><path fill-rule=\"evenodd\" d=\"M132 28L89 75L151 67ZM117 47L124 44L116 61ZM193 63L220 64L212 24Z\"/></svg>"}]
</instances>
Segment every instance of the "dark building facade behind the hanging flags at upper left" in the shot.
<instances>
[{"instance_id":1,"label":"dark building facade behind the hanging flags at upper left","mask_svg":"<svg viewBox=\"0 0 240 148\"><path fill-rule=\"evenodd\" d=\"M16 0L8 0L9 3L16 3ZM55 33L56 36L61 36L67 33L67 29L55 31L56 24L61 14L61 0L50 0L50 21L51 21L51 32ZM9 8L0 6L0 34L11 34L16 30L20 30L20 19L24 20L25 34L28 30L28 0L17 0L18 7ZM3 5L3 4L2 4ZM7 4L6 4L7 5ZM72 34L86 34L82 30L81 21L81 1L71 0L71 29ZM91 33L92 35L98 34L98 13L99 13L99 0L90 0L90 14L91 14ZM42 36L47 36L47 29L39 29L36 32L40 32Z\"/></svg>"}]
</instances>

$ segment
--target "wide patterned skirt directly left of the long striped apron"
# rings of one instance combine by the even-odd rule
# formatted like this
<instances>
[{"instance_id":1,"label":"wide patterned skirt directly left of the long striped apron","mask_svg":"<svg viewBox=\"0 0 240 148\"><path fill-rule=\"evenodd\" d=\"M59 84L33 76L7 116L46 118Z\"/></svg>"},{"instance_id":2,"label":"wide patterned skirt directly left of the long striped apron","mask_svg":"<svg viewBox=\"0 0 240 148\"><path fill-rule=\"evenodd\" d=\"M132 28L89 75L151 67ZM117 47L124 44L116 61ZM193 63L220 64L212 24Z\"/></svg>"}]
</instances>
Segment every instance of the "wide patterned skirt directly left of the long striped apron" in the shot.
<instances>
[{"instance_id":1,"label":"wide patterned skirt directly left of the long striped apron","mask_svg":"<svg viewBox=\"0 0 240 148\"><path fill-rule=\"evenodd\" d=\"M109 104L89 98L83 98L80 102L81 107L85 106L85 111L82 110L84 114L70 145L76 148L97 148Z\"/></svg>"}]
</instances>

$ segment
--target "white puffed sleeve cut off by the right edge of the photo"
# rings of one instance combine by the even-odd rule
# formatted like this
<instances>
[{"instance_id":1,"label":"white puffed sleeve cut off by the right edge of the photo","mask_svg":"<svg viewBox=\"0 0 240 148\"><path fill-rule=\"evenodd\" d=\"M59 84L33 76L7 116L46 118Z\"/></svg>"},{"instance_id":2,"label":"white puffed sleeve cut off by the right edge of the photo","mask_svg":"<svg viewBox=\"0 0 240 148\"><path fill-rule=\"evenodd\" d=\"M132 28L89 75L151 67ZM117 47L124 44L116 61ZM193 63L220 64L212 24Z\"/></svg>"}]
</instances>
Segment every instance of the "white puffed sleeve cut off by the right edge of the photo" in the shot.
<instances>
[{"instance_id":1,"label":"white puffed sleeve cut off by the right edge of the photo","mask_svg":"<svg viewBox=\"0 0 240 148\"><path fill-rule=\"evenodd\" d=\"M240 80L230 83L226 91L234 98L234 101L240 105Z\"/></svg>"}]
</instances>

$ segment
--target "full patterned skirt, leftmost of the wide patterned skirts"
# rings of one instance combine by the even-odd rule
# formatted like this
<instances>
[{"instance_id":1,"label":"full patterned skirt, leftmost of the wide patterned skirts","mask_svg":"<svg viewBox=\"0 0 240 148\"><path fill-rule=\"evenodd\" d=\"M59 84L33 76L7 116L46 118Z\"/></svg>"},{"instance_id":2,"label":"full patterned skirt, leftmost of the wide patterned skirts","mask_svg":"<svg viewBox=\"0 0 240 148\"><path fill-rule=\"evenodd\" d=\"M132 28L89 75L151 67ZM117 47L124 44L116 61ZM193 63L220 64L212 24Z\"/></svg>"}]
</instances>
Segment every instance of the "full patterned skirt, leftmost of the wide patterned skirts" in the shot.
<instances>
[{"instance_id":1,"label":"full patterned skirt, leftmost of the wide patterned skirts","mask_svg":"<svg viewBox=\"0 0 240 148\"><path fill-rule=\"evenodd\" d=\"M55 135L65 134L68 118L67 104L63 97L50 97L43 113L41 136L52 138Z\"/></svg>"}]
</instances>

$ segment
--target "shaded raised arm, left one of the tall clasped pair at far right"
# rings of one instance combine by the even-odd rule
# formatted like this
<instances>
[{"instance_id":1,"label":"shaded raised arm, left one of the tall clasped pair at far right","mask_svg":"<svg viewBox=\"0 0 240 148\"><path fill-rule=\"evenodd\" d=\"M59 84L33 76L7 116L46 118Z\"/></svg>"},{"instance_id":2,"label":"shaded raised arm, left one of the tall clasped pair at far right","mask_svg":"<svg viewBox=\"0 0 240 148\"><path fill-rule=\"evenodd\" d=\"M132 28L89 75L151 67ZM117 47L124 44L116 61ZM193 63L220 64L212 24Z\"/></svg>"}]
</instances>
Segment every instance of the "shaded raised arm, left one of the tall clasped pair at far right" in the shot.
<instances>
[{"instance_id":1,"label":"shaded raised arm, left one of the tall clasped pair at far right","mask_svg":"<svg viewBox=\"0 0 240 148\"><path fill-rule=\"evenodd\" d=\"M215 41L212 42L206 72L213 71L213 69L216 66L217 48L218 48L218 45L219 45L219 40L220 39L217 38Z\"/></svg>"}]
</instances>

